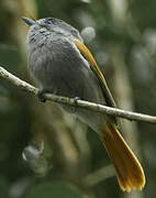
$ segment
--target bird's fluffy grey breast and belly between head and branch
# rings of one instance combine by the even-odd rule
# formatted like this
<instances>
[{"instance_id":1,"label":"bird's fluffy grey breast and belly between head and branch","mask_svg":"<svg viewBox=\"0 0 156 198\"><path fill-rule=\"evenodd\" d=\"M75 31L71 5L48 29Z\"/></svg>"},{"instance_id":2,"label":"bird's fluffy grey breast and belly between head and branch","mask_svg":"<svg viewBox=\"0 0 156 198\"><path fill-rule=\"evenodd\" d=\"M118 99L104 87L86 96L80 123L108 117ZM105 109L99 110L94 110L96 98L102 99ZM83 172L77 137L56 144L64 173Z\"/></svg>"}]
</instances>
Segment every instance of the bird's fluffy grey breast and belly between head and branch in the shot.
<instances>
[{"instance_id":1,"label":"bird's fluffy grey breast and belly between head and branch","mask_svg":"<svg viewBox=\"0 0 156 198\"><path fill-rule=\"evenodd\" d=\"M46 36L30 43L29 68L42 88L60 96L103 101L97 77L69 38Z\"/></svg>"}]
</instances>

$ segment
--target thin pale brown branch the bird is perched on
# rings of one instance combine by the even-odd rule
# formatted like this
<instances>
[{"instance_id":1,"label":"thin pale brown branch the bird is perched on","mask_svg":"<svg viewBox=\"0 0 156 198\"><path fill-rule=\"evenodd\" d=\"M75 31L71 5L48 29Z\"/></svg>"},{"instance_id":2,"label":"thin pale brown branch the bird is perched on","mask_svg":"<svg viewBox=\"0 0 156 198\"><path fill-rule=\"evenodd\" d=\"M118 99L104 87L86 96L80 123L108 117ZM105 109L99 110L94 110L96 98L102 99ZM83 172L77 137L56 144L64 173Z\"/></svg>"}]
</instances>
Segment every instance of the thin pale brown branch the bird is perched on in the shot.
<instances>
[{"instance_id":1,"label":"thin pale brown branch the bird is perched on","mask_svg":"<svg viewBox=\"0 0 156 198\"><path fill-rule=\"evenodd\" d=\"M37 91L38 91L37 88L21 80L16 76L7 72L3 67L0 67L0 76L5 78L7 80L9 80L14 86L19 87L20 89L31 92L35 96L37 95ZM122 110L122 109L116 109L116 108L111 108L111 107L107 107L107 106L102 106L102 105L98 105L98 103L93 103L93 102L83 101L83 100L78 100L76 103L75 100L71 98L66 98L66 97L49 95L49 94L45 94L44 98L46 100L52 100L54 102L64 103L67 106L73 106L73 107L77 106L82 109L88 109L91 111L105 113L105 114L110 114L113 117L120 117L120 118L127 119L127 120L156 123L156 117L148 116L148 114L131 112L131 111L126 111L126 110Z\"/></svg>"}]
</instances>

